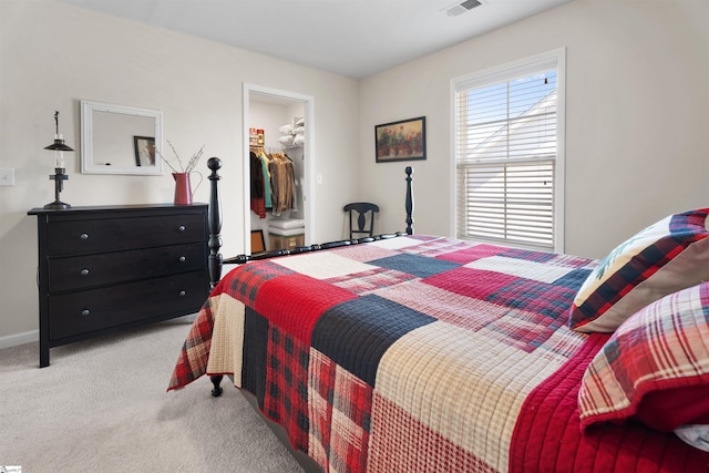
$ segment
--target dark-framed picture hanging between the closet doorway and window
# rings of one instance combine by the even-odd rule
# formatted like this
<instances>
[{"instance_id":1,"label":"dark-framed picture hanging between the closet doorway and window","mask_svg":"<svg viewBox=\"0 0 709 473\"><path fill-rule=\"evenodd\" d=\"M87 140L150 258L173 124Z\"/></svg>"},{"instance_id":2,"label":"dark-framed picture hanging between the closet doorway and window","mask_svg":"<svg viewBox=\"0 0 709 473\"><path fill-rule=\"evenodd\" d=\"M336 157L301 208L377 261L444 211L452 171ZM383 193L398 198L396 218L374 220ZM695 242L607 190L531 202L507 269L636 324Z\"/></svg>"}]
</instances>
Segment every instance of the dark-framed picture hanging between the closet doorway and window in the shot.
<instances>
[{"instance_id":1,"label":"dark-framed picture hanging between the closet doorway and window","mask_svg":"<svg viewBox=\"0 0 709 473\"><path fill-rule=\"evenodd\" d=\"M377 163L425 160L425 116L374 126Z\"/></svg>"}]
</instances>

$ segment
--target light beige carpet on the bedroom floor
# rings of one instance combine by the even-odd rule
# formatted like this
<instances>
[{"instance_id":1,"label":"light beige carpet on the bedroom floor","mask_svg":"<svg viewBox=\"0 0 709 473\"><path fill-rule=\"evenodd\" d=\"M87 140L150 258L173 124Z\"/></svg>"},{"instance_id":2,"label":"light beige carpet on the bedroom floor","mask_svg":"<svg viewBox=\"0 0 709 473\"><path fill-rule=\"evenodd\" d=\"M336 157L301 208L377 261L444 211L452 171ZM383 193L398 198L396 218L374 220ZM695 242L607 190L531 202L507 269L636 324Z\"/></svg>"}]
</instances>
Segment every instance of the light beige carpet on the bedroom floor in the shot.
<instances>
[{"instance_id":1,"label":"light beige carpet on the bedroom floor","mask_svg":"<svg viewBox=\"0 0 709 473\"><path fill-rule=\"evenodd\" d=\"M166 392L189 330L179 318L52 348L0 350L0 465L43 472L301 472L234 388Z\"/></svg>"}]
</instances>

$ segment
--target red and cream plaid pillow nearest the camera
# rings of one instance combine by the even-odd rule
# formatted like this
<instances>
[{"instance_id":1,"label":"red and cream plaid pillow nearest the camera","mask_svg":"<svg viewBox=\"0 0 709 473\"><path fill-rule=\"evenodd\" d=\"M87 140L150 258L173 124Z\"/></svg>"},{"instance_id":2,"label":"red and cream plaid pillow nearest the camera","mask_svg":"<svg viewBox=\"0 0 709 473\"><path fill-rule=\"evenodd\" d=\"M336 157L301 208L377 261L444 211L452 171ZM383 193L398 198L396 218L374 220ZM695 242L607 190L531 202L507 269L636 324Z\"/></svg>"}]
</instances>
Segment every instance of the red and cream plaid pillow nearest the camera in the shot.
<instances>
[{"instance_id":1,"label":"red and cream plaid pillow nearest the camera","mask_svg":"<svg viewBox=\"0 0 709 473\"><path fill-rule=\"evenodd\" d=\"M584 373L578 408L583 429L629 418L667 432L709 423L709 282L618 327Z\"/></svg>"}]
</instances>

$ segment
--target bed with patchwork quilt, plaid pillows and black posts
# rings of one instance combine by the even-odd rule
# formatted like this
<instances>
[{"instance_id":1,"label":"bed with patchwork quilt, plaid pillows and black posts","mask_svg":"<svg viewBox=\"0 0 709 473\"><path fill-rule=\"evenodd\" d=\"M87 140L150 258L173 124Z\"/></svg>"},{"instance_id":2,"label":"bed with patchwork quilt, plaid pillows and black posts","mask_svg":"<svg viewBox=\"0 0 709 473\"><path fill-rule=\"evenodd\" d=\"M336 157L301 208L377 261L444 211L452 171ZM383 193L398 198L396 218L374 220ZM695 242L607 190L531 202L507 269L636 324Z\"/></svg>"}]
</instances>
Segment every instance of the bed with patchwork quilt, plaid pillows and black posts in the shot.
<instances>
[{"instance_id":1,"label":"bed with patchwork quilt, plaid pillows and black posts","mask_svg":"<svg viewBox=\"0 0 709 473\"><path fill-rule=\"evenodd\" d=\"M414 235L407 179L405 232L224 277L210 240L168 390L230 377L326 472L709 471L709 209L599 261Z\"/></svg>"}]
</instances>

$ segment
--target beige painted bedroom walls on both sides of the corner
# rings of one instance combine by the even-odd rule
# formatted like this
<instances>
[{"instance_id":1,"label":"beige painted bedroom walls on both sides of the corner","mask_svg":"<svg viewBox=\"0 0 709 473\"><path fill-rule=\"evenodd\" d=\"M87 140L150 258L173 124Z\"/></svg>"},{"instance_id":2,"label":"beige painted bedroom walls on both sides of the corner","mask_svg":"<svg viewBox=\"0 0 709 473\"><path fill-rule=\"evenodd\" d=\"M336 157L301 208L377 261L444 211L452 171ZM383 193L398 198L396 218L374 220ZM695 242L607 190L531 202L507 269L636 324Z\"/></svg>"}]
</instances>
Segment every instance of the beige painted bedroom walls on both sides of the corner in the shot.
<instances>
[{"instance_id":1,"label":"beige painted bedroom walls on both sides of the corner","mask_svg":"<svg viewBox=\"0 0 709 473\"><path fill-rule=\"evenodd\" d=\"M312 95L323 181L315 238L341 237L341 205L353 198L381 204L378 232L403 229L408 164L417 233L449 234L451 79L565 47L566 253L602 257L645 225L708 204L707 18L705 0L576 0L353 81L54 0L0 0L0 167L14 168L17 181L0 187L0 346L37 336L35 220L27 210L53 199L42 147L54 110L78 152L81 99L162 110L178 150L206 144L207 156L224 161L224 253L233 255L243 245L242 83ZM373 126L420 115L428 161L376 164ZM73 205L172 199L167 175L81 175L79 155L62 194ZM196 199L207 199L206 187Z\"/></svg>"}]
</instances>

